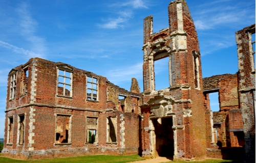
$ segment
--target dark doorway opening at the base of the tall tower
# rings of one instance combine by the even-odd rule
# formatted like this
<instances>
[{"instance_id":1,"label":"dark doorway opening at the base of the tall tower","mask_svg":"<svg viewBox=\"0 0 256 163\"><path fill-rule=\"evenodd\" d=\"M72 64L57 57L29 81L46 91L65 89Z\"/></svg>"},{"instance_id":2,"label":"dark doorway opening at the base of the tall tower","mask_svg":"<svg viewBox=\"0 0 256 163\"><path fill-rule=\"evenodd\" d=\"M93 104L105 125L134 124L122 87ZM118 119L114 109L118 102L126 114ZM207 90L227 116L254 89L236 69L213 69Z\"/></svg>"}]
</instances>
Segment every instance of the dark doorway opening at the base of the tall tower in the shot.
<instances>
[{"instance_id":1,"label":"dark doorway opening at the base of the tall tower","mask_svg":"<svg viewBox=\"0 0 256 163\"><path fill-rule=\"evenodd\" d=\"M173 118L153 119L156 135L156 151L159 156L173 157L174 131Z\"/></svg>"}]
</instances>

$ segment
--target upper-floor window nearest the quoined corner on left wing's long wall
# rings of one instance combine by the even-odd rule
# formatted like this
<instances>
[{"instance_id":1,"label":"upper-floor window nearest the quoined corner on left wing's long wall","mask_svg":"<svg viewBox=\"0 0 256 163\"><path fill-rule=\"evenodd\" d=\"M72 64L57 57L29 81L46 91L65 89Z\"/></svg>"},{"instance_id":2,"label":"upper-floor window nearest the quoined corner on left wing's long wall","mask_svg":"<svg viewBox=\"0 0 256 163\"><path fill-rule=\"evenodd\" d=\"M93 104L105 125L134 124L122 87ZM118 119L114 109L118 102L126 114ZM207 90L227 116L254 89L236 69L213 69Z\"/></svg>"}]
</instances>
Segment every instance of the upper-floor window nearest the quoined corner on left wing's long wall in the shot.
<instances>
[{"instance_id":1,"label":"upper-floor window nearest the quoined corner on left wing's long wall","mask_svg":"<svg viewBox=\"0 0 256 163\"><path fill-rule=\"evenodd\" d=\"M57 95L72 97L72 72L66 69L58 69Z\"/></svg>"}]
</instances>

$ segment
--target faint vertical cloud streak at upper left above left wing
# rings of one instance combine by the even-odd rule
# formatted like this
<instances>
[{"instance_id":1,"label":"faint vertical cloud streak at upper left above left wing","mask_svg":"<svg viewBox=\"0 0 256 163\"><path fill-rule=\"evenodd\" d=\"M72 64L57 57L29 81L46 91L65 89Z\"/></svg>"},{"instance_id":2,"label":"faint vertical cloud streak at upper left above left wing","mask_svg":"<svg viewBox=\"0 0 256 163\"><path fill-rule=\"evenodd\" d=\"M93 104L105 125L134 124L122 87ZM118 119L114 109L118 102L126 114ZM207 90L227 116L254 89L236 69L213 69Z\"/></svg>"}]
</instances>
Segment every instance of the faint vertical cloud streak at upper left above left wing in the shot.
<instances>
[{"instance_id":1,"label":"faint vertical cloud streak at upper left above left wing","mask_svg":"<svg viewBox=\"0 0 256 163\"><path fill-rule=\"evenodd\" d=\"M20 18L20 34L32 44L32 51L39 53L40 56L45 56L46 46L45 39L36 36L37 21L34 20L29 12L29 4L23 2L17 9Z\"/></svg>"}]
</instances>

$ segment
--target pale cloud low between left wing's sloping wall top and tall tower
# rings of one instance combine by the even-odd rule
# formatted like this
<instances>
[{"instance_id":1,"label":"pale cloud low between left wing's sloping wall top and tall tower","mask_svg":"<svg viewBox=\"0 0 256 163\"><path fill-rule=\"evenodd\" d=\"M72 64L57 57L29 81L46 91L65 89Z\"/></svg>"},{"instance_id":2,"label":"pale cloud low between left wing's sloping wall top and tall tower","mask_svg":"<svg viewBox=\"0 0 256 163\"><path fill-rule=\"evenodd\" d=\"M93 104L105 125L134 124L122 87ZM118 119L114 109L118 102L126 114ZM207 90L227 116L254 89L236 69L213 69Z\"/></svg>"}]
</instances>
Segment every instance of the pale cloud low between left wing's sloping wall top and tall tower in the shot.
<instances>
[{"instance_id":1,"label":"pale cloud low between left wing's sloping wall top and tall tower","mask_svg":"<svg viewBox=\"0 0 256 163\"><path fill-rule=\"evenodd\" d=\"M105 76L114 84L131 80L132 77L139 79L142 76L142 65L143 63L137 63L133 66L125 66L110 70Z\"/></svg>"}]
</instances>

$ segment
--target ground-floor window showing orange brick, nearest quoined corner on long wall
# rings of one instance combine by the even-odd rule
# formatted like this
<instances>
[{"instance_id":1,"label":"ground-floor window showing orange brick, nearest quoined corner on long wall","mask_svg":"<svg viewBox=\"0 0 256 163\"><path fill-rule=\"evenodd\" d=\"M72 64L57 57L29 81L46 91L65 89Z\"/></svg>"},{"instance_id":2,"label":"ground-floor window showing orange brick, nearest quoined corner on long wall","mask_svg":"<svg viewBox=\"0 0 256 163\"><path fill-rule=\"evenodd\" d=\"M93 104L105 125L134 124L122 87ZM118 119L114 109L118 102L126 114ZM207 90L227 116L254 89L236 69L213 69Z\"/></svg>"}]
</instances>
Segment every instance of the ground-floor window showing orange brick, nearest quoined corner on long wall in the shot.
<instances>
[{"instance_id":1,"label":"ground-floor window showing orange brick, nearest quoined corner on long wall","mask_svg":"<svg viewBox=\"0 0 256 163\"><path fill-rule=\"evenodd\" d=\"M71 116L57 115L56 118L56 144L71 143Z\"/></svg>"}]
</instances>

